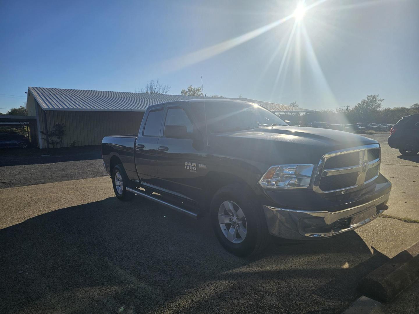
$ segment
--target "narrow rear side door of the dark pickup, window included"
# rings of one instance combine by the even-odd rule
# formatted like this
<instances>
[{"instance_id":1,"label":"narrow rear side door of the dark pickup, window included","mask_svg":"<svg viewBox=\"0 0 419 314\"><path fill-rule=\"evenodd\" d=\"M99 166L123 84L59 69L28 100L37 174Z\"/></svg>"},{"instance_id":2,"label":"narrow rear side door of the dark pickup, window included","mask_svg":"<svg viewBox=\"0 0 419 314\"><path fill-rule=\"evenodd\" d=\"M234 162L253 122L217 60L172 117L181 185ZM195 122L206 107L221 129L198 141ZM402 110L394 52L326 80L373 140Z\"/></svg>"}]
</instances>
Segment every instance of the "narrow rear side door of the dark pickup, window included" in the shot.
<instances>
[{"instance_id":1,"label":"narrow rear side door of the dark pickup, window included","mask_svg":"<svg viewBox=\"0 0 419 314\"><path fill-rule=\"evenodd\" d=\"M150 110L140 127L135 142L135 167L142 182L155 184L157 172L157 142L163 120L163 106Z\"/></svg>"}]
</instances>

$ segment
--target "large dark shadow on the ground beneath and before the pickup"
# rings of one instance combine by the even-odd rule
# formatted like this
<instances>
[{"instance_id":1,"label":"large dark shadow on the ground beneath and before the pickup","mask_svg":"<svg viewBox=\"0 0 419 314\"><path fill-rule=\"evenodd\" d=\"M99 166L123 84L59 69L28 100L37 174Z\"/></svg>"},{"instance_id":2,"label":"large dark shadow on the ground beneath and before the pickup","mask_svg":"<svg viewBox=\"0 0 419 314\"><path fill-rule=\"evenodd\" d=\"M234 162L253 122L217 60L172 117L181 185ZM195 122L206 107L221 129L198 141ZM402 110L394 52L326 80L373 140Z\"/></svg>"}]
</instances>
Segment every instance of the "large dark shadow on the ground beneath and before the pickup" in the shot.
<instances>
[{"instance_id":1,"label":"large dark shadow on the ground beneath and before the pickup","mask_svg":"<svg viewBox=\"0 0 419 314\"><path fill-rule=\"evenodd\" d=\"M205 218L114 197L2 229L0 252L1 313L336 313L388 260L355 232L239 258Z\"/></svg>"}]
</instances>

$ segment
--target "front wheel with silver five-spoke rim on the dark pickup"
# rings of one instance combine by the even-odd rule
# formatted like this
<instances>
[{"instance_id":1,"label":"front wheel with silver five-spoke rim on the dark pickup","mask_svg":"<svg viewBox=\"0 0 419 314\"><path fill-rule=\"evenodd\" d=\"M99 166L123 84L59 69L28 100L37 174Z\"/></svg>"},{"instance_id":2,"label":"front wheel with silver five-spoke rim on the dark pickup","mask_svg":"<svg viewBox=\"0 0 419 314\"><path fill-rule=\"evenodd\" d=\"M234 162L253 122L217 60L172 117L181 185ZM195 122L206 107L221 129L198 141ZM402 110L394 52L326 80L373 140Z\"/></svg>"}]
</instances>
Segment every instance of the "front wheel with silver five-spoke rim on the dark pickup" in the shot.
<instances>
[{"instance_id":1,"label":"front wheel with silver five-spoke rim on the dark pickup","mask_svg":"<svg viewBox=\"0 0 419 314\"><path fill-rule=\"evenodd\" d=\"M220 244L237 256L256 255L269 242L263 208L242 185L226 185L210 205L211 224Z\"/></svg>"}]
</instances>

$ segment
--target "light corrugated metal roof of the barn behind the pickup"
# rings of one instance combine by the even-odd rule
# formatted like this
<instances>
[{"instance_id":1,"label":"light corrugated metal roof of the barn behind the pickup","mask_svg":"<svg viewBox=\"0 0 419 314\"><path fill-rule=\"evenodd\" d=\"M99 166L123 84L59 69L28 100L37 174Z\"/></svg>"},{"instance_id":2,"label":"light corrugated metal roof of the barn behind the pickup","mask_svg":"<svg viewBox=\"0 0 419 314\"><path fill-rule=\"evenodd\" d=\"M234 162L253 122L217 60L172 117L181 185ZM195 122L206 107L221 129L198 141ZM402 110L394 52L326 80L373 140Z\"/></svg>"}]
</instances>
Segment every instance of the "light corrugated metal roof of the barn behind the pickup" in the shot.
<instances>
[{"instance_id":1,"label":"light corrugated metal roof of the barn behind the pickup","mask_svg":"<svg viewBox=\"0 0 419 314\"><path fill-rule=\"evenodd\" d=\"M197 99L197 96L109 92L105 90L70 90L29 87L29 92L44 110L69 111L145 111L148 106L169 101ZM211 98L211 97L208 97ZM215 97L214 97L215 98ZM315 112L248 98L228 98L258 103L275 112Z\"/></svg>"}]
</instances>

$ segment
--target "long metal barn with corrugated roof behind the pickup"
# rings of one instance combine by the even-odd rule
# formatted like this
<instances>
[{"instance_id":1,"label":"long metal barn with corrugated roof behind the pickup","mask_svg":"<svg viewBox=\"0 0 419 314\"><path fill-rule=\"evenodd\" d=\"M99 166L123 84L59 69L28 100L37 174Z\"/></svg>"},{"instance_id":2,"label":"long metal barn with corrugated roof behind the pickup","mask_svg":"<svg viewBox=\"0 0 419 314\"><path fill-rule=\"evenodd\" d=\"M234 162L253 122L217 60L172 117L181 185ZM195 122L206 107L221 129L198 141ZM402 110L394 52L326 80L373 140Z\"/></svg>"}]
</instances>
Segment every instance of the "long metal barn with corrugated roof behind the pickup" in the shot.
<instances>
[{"instance_id":1,"label":"long metal barn with corrugated roof behind the pickup","mask_svg":"<svg viewBox=\"0 0 419 314\"><path fill-rule=\"evenodd\" d=\"M64 124L62 147L69 147L99 145L106 135L137 134L148 106L196 98L198 97L28 87L26 109L28 116L36 117L36 130L31 130L34 144L38 144L39 148L49 148L47 134L54 125ZM314 112L248 98L240 100L259 103L274 113Z\"/></svg>"}]
</instances>

